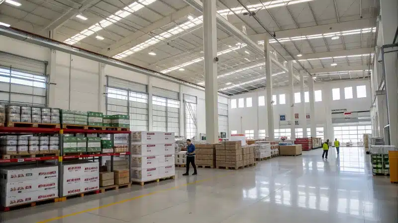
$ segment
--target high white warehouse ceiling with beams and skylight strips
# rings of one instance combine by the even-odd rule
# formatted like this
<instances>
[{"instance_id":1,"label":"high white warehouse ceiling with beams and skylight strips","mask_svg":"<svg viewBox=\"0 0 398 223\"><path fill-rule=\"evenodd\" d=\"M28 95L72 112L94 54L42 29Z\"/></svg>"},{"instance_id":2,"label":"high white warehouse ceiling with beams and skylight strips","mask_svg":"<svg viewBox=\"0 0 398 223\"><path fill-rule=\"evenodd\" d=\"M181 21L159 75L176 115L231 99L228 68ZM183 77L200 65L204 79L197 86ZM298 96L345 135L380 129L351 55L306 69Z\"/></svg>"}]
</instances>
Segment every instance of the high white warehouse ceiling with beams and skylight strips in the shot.
<instances>
[{"instance_id":1,"label":"high white warehouse ceiling with beams and skylight strips","mask_svg":"<svg viewBox=\"0 0 398 223\"><path fill-rule=\"evenodd\" d=\"M187 0L190 1L190 0ZM216 0L217 12L282 65L296 59L315 81L365 78L375 45L377 0ZM250 13L247 12L248 9ZM5 0L0 22L204 85L202 14L185 0ZM50 30L54 30L50 36ZM217 27L218 89L266 85L265 59ZM293 56L293 58L292 58ZM288 84L272 65L274 86Z\"/></svg>"}]
</instances>

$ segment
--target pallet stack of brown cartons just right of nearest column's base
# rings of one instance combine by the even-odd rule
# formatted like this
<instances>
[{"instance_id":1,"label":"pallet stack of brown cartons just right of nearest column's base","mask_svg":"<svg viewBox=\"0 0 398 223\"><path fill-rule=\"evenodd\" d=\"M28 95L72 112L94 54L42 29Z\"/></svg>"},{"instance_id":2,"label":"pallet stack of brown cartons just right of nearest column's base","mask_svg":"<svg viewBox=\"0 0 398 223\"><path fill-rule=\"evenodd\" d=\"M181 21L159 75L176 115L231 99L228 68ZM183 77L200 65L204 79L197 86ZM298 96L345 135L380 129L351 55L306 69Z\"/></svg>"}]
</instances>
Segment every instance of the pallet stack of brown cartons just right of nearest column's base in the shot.
<instances>
[{"instance_id":1,"label":"pallet stack of brown cartons just right of nearest column's base","mask_svg":"<svg viewBox=\"0 0 398 223\"><path fill-rule=\"evenodd\" d=\"M242 142L225 141L215 145L216 167L234 168L243 167Z\"/></svg>"}]
</instances>

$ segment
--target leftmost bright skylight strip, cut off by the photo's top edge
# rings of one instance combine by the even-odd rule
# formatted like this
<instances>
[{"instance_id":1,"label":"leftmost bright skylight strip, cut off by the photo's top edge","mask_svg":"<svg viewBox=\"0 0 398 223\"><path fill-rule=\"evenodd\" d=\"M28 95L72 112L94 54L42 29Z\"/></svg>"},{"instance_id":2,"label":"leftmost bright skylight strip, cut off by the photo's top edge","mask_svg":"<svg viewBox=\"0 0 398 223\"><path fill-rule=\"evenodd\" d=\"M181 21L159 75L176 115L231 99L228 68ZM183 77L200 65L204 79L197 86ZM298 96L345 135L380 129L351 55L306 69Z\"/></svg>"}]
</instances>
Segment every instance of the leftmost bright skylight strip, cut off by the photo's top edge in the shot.
<instances>
[{"instance_id":1,"label":"leftmost bright skylight strip, cut off by the photo's top edge","mask_svg":"<svg viewBox=\"0 0 398 223\"><path fill-rule=\"evenodd\" d=\"M119 11L115 12L113 15L107 17L106 19L101 20L99 23L96 23L96 24L90 26L88 29L85 29L82 32L74 35L73 37L68 38L67 40L64 41L64 43L73 45L73 44L83 40L84 38L92 35L93 33L98 32L101 29L103 29L113 23L116 23L120 19L125 18L128 15L131 15L131 13L134 13L134 12L140 10L141 8L145 7L145 5L148 5L154 1L156 1L156 0L134 1L130 5L124 7L123 10L119 10Z\"/></svg>"}]
</instances>

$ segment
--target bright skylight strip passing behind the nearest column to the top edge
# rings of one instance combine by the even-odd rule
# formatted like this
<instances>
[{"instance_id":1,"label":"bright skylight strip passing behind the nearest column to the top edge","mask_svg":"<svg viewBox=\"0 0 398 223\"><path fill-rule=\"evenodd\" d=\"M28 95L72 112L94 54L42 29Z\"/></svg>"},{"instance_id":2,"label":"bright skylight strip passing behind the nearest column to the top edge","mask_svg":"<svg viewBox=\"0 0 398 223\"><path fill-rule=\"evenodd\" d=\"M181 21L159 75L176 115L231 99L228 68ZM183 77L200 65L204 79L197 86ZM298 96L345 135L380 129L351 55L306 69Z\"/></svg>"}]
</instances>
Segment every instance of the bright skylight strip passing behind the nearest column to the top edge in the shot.
<instances>
[{"instance_id":1,"label":"bright skylight strip passing behind the nearest column to the top edge","mask_svg":"<svg viewBox=\"0 0 398 223\"><path fill-rule=\"evenodd\" d=\"M306 2L306 1L311 1L311 0L272 0L272 1L264 2L264 5L266 6L266 8L270 8L270 7L277 7L277 6L285 6L285 5L290 5L290 4L296 4L296 3ZM261 4L261 3L260 4L247 5L246 7L248 7L250 11L264 9L263 4ZM246 12L246 9L244 9L244 7L236 7L236 8L231 8L231 9L232 9L233 12L235 12L237 14L241 14L241 13ZM217 13L219 13L220 15L228 15L228 14L233 14L232 11L230 11L229 9L223 9L223 10L218 10ZM168 39L168 38L170 38L172 36L175 36L175 35L183 32L185 30L188 30L188 29L190 29L192 27L198 26L198 25L203 23L203 16L202 15L197 17L197 18L193 18L191 15L189 15L188 19L189 19L189 21L187 21L187 22L185 22L185 23L183 23L181 25L175 26L174 28L172 28L172 29L170 29L170 30L168 30L166 32L163 32L163 33L161 33L159 35L156 35L156 36L152 37L151 39L149 39L149 40L147 40L147 41L145 41L143 43L140 43L140 44L138 44L138 45L126 50L126 51L123 51L122 53L113 56L113 58L121 59L121 58L124 58L126 56L132 55L132 54L134 54L136 52L144 50L145 48L148 48L148 47L150 47L152 45L155 45L155 44L161 42L162 40ZM132 53L127 54L129 52L132 52Z\"/></svg>"}]
</instances>

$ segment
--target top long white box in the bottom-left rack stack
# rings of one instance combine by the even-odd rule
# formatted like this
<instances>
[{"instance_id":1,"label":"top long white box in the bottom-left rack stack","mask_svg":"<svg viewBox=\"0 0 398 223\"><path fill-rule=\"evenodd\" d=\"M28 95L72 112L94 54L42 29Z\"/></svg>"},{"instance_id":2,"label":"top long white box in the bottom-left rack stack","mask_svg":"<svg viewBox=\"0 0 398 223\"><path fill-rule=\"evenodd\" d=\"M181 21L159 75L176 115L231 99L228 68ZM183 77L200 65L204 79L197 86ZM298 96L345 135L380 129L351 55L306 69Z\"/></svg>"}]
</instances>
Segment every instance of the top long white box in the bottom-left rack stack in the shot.
<instances>
[{"instance_id":1,"label":"top long white box in the bottom-left rack stack","mask_svg":"<svg viewBox=\"0 0 398 223\"><path fill-rule=\"evenodd\" d=\"M21 182L25 180L47 180L58 179L58 167L1 167L0 169L0 182L11 183Z\"/></svg>"}]
</instances>

